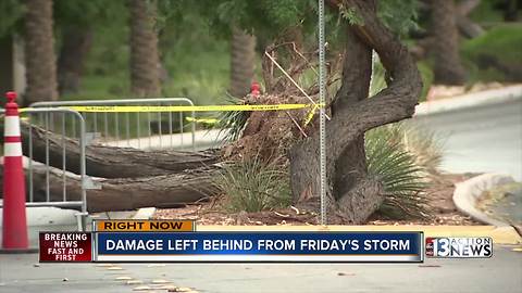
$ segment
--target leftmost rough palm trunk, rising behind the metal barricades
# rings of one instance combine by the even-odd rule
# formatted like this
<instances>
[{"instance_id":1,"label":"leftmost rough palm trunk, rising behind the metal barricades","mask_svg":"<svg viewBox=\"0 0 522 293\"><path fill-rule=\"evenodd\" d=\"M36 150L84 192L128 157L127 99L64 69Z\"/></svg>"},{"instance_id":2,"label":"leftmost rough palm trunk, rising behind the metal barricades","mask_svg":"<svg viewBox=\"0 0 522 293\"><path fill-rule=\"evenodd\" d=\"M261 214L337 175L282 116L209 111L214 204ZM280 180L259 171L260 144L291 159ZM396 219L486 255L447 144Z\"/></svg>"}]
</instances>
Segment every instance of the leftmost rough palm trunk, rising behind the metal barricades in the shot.
<instances>
[{"instance_id":1,"label":"leftmost rough palm trunk, rising behind the metal barricades","mask_svg":"<svg viewBox=\"0 0 522 293\"><path fill-rule=\"evenodd\" d=\"M27 91L25 103L58 99L52 0L26 0L25 59Z\"/></svg>"}]
</instances>

